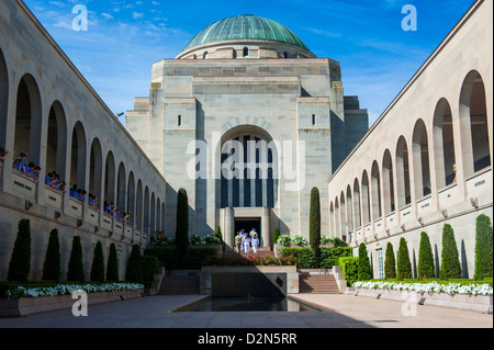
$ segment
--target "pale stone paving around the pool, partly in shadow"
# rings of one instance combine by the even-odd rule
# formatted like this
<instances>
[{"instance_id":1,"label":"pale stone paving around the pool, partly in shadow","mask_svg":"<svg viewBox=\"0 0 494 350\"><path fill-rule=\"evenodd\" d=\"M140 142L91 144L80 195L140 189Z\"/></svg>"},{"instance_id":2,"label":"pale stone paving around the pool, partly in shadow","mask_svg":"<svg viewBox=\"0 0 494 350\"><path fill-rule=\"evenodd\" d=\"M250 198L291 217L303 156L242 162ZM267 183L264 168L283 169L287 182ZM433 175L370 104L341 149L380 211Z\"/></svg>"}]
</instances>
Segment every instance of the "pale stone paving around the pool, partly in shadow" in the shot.
<instances>
[{"instance_id":1,"label":"pale stone paving around the pool, partly in shadow","mask_svg":"<svg viewBox=\"0 0 494 350\"><path fill-rule=\"evenodd\" d=\"M403 303L350 295L299 294L319 313L173 313L201 295L160 295L89 306L88 317L71 311L0 319L0 328L492 328L493 316L436 306L402 313Z\"/></svg>"}]
</instances>

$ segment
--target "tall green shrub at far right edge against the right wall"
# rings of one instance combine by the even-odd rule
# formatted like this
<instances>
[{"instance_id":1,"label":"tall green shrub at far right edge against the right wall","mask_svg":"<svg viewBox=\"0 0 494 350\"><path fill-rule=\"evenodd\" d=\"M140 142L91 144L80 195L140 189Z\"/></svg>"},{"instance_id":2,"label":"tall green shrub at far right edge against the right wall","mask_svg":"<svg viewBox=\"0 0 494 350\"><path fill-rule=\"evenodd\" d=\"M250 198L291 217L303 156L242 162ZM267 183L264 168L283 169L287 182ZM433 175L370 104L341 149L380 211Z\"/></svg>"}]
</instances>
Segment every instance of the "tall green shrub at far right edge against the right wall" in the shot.
<instances>
[{"instance_id":1,"label":"tall green shrub at far right edge against the right wall","mask_svg":"<svg viewBox=\"0 0 494 350\"><path fill-rule=\"evenodd\" d=\"M491 218L481 214L475 227L475 272L474 280L493 278L493 237Z\"/></svg>"}]
</instances>

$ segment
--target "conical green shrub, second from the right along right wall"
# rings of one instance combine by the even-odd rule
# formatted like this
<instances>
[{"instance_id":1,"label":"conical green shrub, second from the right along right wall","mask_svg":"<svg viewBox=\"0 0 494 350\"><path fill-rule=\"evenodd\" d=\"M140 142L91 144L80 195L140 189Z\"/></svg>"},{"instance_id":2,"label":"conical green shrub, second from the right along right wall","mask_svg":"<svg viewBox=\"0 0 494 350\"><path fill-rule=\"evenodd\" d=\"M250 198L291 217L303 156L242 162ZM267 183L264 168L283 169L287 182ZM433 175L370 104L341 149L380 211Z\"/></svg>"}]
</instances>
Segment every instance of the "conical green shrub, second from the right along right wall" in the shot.
<instances>
[{"instance_id":1,"label":"conical green shrub, second from the right along right wall","mask_svg":"<svg viewBox=\"0 0 494 350\"><path fill-rule=\"evenodd\" d=\"M445 224L442 227L442 252L439 278L441 280L461 279L461 264L457 240L454 239L454 230L449 224Z\"/></svg>"}]
</instances>

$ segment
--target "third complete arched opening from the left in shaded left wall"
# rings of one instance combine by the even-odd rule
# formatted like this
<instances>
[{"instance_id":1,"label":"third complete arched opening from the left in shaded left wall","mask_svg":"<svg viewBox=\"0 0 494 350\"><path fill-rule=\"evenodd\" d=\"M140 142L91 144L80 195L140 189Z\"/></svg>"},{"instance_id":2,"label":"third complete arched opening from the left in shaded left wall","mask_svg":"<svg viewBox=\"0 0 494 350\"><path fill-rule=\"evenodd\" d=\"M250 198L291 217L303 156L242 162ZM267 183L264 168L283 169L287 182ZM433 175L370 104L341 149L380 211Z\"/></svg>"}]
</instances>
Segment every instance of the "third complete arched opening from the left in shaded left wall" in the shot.
<instances>
[{"instance_id":1,"label":"third complete arched opening from the left in shaded left wall","mask_svg":"<svg viewBox=\"0 0 494 350\"><path fill-rule=\"evenodd\" d=\"M80 122L77 122L72 131L72 144L70 151L70 185L78 190L86 190L86 132Z\"/></svg>"}]
</instances>

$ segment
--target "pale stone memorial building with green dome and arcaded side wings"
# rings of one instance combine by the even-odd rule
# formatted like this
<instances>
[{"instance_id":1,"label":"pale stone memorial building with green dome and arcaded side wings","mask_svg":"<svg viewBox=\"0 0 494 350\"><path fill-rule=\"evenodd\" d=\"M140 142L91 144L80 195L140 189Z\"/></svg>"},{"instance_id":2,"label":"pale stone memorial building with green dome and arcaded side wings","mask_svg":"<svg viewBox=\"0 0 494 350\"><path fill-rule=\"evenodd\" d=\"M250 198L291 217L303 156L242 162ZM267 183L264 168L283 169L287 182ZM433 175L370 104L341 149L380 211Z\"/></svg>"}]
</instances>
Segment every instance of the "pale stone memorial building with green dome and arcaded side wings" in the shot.
<instances>
[{"instance_id":1,"label":"pale stone memorial building with green dome and arcaded side wings","mask_svg":"<svg viewBox=\"0 0 494 350\"><path fill-rule=\"evenodd\" d=\"M322 234L364 242L374 276L401 237L412 261L420 232L440 257L449 223L472 278L475 217L493 217L492 13L492 1L474 1L370 129L358 98L344 93L345 67L255 15L214 22L155 63L149 95L135 99L124 127L23 1L1 1L0 281L22 218L31 221L31 280L53 228L63 275L77 235L87 275L101 240L105 258L116 245L124 280L132 245L175 235L181 188L190 235L220 226L233 245L236 230L256 227L265 247L276 227L308 237L318 188ZM40 181L12 168L21 153ZM53 172L100 206L46 185ZM109 215L104 202L128 217Z\"/></svg>"}]
</instances>

